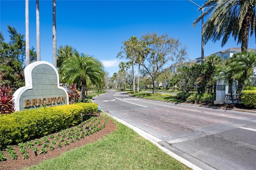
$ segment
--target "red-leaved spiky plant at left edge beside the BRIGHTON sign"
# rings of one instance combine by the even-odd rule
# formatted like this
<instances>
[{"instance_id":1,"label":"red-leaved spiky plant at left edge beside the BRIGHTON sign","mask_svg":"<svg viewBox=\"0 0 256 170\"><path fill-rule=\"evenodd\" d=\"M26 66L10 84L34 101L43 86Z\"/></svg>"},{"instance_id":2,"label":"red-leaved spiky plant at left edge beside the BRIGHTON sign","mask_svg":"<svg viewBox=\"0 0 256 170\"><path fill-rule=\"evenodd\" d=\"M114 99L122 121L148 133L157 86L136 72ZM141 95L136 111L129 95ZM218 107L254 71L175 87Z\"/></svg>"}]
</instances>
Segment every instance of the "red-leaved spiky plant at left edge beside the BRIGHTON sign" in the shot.
<instances>
[{"instance_id":1,"label":"red-leaved spiky plant at left edge beside the BRIGHTON sign","mask_svg":"<svg viewBox=\"0 0 256 170\"><path fill-rule=\"evenodd\" d=\"M14 112L12 88L9 84L0 85L0 114L10 114Z\"/></svg>"}]
</instances>

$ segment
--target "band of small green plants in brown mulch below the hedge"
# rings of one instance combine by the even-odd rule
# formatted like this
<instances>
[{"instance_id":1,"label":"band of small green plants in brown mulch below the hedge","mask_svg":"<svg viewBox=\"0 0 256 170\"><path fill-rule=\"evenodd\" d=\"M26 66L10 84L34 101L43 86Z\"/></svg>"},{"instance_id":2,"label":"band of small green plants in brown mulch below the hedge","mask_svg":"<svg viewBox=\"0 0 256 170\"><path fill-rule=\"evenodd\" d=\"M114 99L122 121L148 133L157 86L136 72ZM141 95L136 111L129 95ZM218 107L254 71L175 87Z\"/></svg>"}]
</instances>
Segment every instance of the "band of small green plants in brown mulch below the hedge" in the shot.
<instances>
[{"instance_id":1,"label":"band of small green plants in brown mulch below the hedge","mask_svg":"<svg viewBox=\"0 0 256 170\"><path fill-rule=\"evenodd\" d=\"M85 138L85 136L101 130L106 126L108 120L105 118L104 123L100 125L101 122L102 117L92 116L90 119L82 123L83 126L80 124L76 127L61 130L56 135L50 134L42 137L41 139L35 139L24 143L21 142L18 144L20 153L23 155L23 159L28 158L28 149L35 152L35 156L37 156L37 151L39 151L39 154L47 154L48 151L54 150L55 147L67 146L70 142L74 143ZM7 146L6 152L9 154L11 160L17 159L18 154L15 153L13 146ZM6 156L0 150L0 161L5 160L7 160Z\"/></svg>"}]
</instances>

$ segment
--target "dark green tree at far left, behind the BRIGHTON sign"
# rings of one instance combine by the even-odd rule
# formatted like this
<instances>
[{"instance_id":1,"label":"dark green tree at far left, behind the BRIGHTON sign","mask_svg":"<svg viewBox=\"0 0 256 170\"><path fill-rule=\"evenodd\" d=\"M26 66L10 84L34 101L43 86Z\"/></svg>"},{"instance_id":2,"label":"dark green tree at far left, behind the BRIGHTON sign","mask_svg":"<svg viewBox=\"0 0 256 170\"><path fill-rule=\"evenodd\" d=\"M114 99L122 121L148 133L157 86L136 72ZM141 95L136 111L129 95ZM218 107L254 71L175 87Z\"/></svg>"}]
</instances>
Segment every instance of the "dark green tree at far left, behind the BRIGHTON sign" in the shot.
<instances>
[{"instance_id":1,"label":"dark green tree at far left, behind the BRIGHTON sign","mask_svg":"<svg viewBox=\"0 0 256 170\"><path fill-rule=\"evenodd\" d=\"M0 84L8 82L15 91L25 85L24 59L25 40L24 35L17 32L14 27L7 26L10 34L9 42L5 42L0 32ZM30 49L30 62L36 61L36 52Z\"/></svg>"}]
</instances>

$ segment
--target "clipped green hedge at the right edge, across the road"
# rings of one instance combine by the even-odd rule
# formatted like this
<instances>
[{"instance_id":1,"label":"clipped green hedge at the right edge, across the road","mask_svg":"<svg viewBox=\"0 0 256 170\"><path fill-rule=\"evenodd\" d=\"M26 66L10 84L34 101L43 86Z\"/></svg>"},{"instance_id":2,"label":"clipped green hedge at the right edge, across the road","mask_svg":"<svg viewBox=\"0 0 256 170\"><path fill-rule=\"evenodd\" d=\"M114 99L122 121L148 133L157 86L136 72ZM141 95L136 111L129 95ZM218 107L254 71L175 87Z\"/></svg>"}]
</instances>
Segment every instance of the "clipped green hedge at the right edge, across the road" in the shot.
<instances>
[{"instance_id":1,"label":"clipped green hedge at the right edge, across the road","mask_svg":"<svg viewBox=\"0 0 256 170\"><path fill-rule=\"evenodd\" d=\"M243 90L241 103L245 106L256 107L256 90Z\"/></svg>"}]
</instances>

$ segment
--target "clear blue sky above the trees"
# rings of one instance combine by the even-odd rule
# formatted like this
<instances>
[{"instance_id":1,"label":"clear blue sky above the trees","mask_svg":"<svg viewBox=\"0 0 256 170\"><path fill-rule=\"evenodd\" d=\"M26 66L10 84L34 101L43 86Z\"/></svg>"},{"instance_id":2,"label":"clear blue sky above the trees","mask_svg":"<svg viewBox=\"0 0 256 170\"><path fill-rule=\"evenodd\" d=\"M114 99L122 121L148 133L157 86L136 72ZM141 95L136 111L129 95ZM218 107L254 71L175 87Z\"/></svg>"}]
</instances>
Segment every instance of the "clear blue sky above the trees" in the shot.
<instances>
[{"instance_id":1,"label":"clear blue sky above the trees","mask_svg":"<svg viewBox=\"0 0 256 170\"><path fill-rule=\"evenodd\" d=\"M193 0L202 5L204 1ZM122 42L131 36L157 32L178 38L187 46L188 58L201 56L201 24L192 27L201 14L198 6L188 0L125 1L125 0L57 0L56 30L57 48L70 45L78 52L85 52L103 62L112 76L118 72L116 58ZM36 49L36 1L29 1L30 48ZM0 0L0 30L9 41L7 25L25 35L25 0ZM52 61L52 0L40 0L41 60ZM254 36L249 38L248 48L256 48ZM204 55L220 50L240 47L234 38L222 48L221 41L208 42Z\"/></svg>"}]
</instances>

